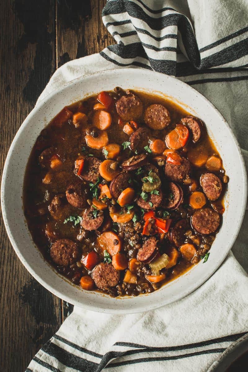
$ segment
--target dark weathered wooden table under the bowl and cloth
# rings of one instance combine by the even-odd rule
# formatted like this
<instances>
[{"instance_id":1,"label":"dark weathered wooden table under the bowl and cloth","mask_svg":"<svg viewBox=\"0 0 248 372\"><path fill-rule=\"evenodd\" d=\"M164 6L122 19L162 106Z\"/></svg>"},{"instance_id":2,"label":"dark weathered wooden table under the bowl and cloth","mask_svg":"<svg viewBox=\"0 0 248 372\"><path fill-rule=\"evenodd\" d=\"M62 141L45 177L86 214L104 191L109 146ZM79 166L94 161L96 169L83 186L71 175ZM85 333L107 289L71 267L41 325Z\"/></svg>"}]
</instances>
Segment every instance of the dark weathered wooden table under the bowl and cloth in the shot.
<instances>
[{"instance_id":1,"label":"dark weathered wooden table under the bowl and cloth","mask_svg":"<svg viewBox=\"0 0 248 372\"><path fill-rule=\"evenodd\" d=\"M2 0L0 169L10 144L54 71L99 52L113 39L106 0ZM24 371L72 305L46 291L20 263L0 225L0 371Z\"/></svg>"}]
</instances>

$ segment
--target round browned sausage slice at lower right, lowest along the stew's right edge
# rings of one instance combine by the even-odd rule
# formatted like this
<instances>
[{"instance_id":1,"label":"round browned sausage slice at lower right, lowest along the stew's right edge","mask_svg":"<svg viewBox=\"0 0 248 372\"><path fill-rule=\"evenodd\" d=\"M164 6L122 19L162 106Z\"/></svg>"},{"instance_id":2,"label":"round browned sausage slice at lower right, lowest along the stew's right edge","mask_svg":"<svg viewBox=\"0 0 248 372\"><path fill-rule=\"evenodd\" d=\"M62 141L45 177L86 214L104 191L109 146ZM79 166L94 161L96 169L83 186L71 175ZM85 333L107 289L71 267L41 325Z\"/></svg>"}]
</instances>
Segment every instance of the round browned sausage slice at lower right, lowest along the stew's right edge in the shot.
<instances>
[{"instance_id":1,"label":"round browned sausage slice at lower right, lowest along the stew's right edge","mask_svg":"<svg viewBox=\"0 0 248 372\"><path fill-rule=\"evenodd\" d=\"M199 209L191 216L191 225L200 234L215 232L220 224L220 215L210 208Z\"/></svg>"}]
</instances>

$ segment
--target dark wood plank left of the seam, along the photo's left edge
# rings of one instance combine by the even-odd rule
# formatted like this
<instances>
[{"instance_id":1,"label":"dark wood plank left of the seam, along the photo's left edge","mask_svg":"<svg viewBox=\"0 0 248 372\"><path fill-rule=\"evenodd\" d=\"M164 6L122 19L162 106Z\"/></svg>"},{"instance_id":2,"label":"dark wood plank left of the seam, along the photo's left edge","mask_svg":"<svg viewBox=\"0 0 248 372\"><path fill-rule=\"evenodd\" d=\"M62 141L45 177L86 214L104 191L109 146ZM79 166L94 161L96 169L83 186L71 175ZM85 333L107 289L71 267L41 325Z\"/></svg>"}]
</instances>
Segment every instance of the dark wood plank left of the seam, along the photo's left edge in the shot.
<instances>
[{"instance_id":1,"label":"dark wood plank left of the seam, along the photo's left edge","mask_svg":"<svg viewBox=\"0 0 248 372\"><path fill-rule=\"evenodd\" d=\"M54 0L0 2L0 169L17 129L55 71ZM0 225L0 371L24 371L60 325L59 299L17 258Z\"/></svg>"}]
</instances>

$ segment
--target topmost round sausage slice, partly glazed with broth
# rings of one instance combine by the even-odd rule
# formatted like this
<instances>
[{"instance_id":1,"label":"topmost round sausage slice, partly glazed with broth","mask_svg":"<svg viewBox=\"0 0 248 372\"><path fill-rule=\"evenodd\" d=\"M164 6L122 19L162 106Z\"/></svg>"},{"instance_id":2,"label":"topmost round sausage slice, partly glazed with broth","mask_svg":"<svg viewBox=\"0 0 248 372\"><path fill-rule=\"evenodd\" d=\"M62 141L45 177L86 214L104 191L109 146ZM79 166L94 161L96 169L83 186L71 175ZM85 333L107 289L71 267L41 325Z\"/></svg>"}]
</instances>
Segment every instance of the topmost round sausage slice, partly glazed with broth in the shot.
<instances>
[{"instance_id":1,"label":"topmost round sausage slice, partly glazed with broth","mask_svg":"<svg viewBox=\"0 0 248 372\"><path fill-rule=\"evenodd\" d=\"M116 102L116 111L124 121L137 120L141 117L143 103L135 94L122 96Z\"/></svg>"}]
</instances>

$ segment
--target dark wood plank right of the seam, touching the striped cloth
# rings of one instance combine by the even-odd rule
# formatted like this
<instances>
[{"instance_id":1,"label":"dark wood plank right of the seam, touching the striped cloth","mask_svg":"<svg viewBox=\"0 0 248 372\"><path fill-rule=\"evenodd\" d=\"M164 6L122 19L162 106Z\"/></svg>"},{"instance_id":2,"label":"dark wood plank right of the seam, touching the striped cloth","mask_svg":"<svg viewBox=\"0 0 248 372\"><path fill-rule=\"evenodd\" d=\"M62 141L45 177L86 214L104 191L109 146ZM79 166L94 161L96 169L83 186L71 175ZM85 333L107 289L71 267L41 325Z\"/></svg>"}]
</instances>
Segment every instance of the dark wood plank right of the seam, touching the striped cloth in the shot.
<instances>
[{"instance_id":1,"label":"dark wood plank right of the seam, touching the striped cloth","mask_svg":"<svg viewBox=\"0 0 248 372\"><path fill-rule=\"evenodd\" d=\"M74 58L100 52L113 44L112 36L102 22L106 0L59 0L56 6L57 66ZM62 321L73 311L73 305L62 301Z\"/></svg>"}]
</instances>

